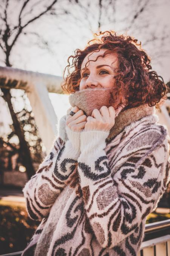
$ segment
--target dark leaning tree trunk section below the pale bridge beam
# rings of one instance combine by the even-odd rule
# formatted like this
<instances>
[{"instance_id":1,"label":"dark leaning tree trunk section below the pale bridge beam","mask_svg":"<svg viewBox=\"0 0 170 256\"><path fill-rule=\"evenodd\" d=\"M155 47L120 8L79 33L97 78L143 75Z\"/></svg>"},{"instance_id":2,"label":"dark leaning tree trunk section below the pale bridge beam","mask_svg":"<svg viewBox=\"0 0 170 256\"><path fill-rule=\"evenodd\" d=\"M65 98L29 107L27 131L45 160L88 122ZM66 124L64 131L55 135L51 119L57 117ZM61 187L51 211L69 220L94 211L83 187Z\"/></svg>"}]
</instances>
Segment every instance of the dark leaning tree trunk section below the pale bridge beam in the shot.
<instances>
[{"instance_id":1,"label":"dark leaning tree trunk section below the pale bridge beam","mask_svg":"<svg viewBox=\"0 0 170 256\"><path fill-rule=\"evenodd\" d=\"M17 119L17 116L14 112L14 109L12 107L11 94L9 92L9 89L1 88L1 90L4 94L3 98L7 102L8 107L9 107L9 111L11 113L11 118L12 118L12 121L13 121L15 134L19 138L19 143L20 143L19 154L20 154L21 159L23 161L23 165L26 168L26 173L27 173L28 179L30 179L31 176L35 174L35 170L34 170L34 167L32 165L32 159L31 159L31 154L30 154L29 148L28 148L28 144L25 141L24 131L23 131L22 127L20 126L20 123L19 123L19 121Z\"/></svg>"}]
</instances>

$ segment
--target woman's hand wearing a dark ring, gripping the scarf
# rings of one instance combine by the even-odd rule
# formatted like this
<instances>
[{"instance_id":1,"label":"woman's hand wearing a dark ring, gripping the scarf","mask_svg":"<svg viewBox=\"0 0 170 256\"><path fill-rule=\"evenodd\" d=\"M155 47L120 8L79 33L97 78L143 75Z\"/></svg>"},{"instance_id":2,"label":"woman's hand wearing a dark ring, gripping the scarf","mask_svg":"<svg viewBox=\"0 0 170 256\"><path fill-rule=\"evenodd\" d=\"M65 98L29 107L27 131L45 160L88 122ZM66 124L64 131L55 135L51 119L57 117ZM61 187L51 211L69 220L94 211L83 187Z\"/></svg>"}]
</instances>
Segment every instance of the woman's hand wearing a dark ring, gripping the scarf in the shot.
<instances>
[{"instance_id":1,"label":"woman's hand wearing a dark ring, gripping the scarf","mask_svg":"<svg viewBox=\"0 0 170 256\"><path fill-rule=\"evenodd\" d=\"M71 111L75 112L76 114L74 114L73 116L71 116L71 115L67 116L66 125L68 127L70 127L70 129L73 132L78 132L78 131L84 129L85 124L87 123L87 121L86 121L87 116L84 115L83 110L81 110L77 106L75 106L75 107L69 109L69 113Z\"/></svg>"}]
</instances>

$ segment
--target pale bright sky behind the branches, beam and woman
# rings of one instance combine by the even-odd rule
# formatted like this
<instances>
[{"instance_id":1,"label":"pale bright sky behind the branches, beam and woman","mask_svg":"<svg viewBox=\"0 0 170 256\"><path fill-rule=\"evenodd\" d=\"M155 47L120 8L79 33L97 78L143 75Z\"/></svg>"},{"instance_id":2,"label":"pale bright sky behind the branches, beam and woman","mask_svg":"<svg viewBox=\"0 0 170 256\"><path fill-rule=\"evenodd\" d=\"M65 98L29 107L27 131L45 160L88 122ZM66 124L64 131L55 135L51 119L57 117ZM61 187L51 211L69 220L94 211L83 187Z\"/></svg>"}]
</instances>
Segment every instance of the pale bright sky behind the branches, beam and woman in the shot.
<instances>
[{"instance_id":1,"label":"pale bright sky behind the branches, beam and woman","mask_svg":"<svg viewBox=\"0 0 170 256\"><path fill-rule=\"evenodd\" d=\"M31 2L31 1L30 1ZM43 3L44 0L42 1ZM48 1L50 2L50 1ZM25 30L26 35L22 35L19 41L12 50L11 63L14 68L25 69L28 71L42 72L53 75L63 75L63 69L67 64L68 57L73 54L77 48L83 49L87 42L93 38L93 33L96 32L97 9L95 1L82 1L82 5L90 2L91 8L82 12L82 9L77 5L73 5L66 0L58 0L58 13L56 17L47 16L34 22ZM108 0L103 3L107 7ZM106 8L106 13L103 13L102 19L104 24L100 30L115 30L117 33L127 33L139 39L144 46L142 47L147 51L151 57L151 65L154 70L164 78L165 82L170 80L170 55L166 53L169 48L170 42L165 40L165 44L160 43L159 40L155 41L154 36L161 37L162 34L170 34L169 26L169 9L170 1L162 0L148 0L148 7L143 16L139 15L137 22L132 25L132 29L126 27L126 23L130 24L133 20L135 9L140 9L140 5L144 1L131 1L121 0L116 2L116 13L110 22L106 17L112 17L113 11L111 8ZM17 11L19 11L19 4L22 1L11 0L9 8L9 19L12 23L17 22ZM35 0L34 0L35 3ZM130 4L133 3L133 4ZM139 5L139 6L138 6ZM28 6L29 7L29 6ZM43 6L40 6L41 8ZM13 9L15 8L15 12ZM71 10L72 14L61 15L63 9ZM36 8L34 8L36 10ZM25 21L29 18L29 13L25 14ZM91 29L90 29L91 28ZM39 33L40 38L32 34ZM48 48L43 49L42 39L48 41ZM147 44L146 41L149 41ZM164 56L161 56L164 55ZM3 59L3 53L0 52L0 60ZM2 61L0 65L4 66ZM70 107L67 95L59 95L49 93L49 98L54 107L58 119L65 115L66 110ZM1 107L4 106L1 100ZM19 103L17 103L19 104ZM8 111L8 110L7 110ZM6 110L0 112L0 118L4 122L10 123L10 118L6 119ZM5 126L6 127L6 124Z\"/></svg>"}]
</instances>

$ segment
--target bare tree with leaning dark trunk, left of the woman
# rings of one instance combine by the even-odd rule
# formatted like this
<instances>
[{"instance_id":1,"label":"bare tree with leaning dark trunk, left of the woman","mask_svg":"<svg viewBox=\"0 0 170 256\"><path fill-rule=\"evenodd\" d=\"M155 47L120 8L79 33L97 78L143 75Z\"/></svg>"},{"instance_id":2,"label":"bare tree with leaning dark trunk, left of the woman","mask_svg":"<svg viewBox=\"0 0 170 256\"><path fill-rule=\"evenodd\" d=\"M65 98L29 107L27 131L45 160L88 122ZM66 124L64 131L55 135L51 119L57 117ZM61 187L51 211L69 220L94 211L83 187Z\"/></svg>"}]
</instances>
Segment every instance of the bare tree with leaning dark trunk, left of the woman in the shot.
<instances>
[{"instance_id":1,"label":"bare tree with leaning dark trunk, left of the woman","mask_svg":"<svg viewBox=\"0 0 170 256\"><path fill-rule=\"evenodd\" d=\"M13 14L15 9L15 16ZM3 61L6 66L11 67L12 63L10 60L11 53L14 50L15 45L18 43L21 36L34 35L41 38L39 33L34 31L34 25L37 20L42 19L47 15L57 16L57 0L2 0L0 3L0 50L3 52ZM29 28L29 30L27 30ZM48 48L48 42L43 41L43 44ZM13 83L15 81L11 81ZM20 145L20 157L23 161L23 165L26 167L28 178L34 173L34 167L32 165L31 154L29 151L29 144L25 140L25 133L23 126L21 125L19 118L11 102L11 93L8 88L3 88L0 85L3 92L3 98L8 104L9 111L11 113L14 133L19 138Z\"/></svg>"}]
</instances>

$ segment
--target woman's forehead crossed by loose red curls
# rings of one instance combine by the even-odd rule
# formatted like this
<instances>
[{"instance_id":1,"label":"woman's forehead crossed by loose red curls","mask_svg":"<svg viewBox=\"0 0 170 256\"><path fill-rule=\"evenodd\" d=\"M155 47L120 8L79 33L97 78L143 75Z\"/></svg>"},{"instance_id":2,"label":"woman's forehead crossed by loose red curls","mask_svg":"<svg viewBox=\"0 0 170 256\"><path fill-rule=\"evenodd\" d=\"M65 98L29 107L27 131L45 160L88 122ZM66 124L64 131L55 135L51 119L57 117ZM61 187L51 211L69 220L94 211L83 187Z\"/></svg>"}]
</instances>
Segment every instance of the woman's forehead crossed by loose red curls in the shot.
<instances>
[{"instance_id":1,"label":"woman's forehead crossed by loose red curls","mask_svg":"<svg viewBox=\"0 0 170 256\"><path fill-rule=\"evenodd\" d=\"M105 57L100 56L99 58L97 58L99 55L103 55L105 51L107 51L107 49L101 49L99 52L92 52L92 53L90 52L90 53L88 53L88 55L84 58L84 60L82 62L81 68L85 68L85 64L89 60L92 60L92 61L90 61L87 64L87 67L88 66L97 66L97 65L100 65L100 64L111 65L113 62L114 62L113 65L117 66L118 61L117 61L117 54L116 53L110 53L110 54L107 54ZM96 58L97 58L97 60L96 60Z\"/></svg>"}]
</instances>

